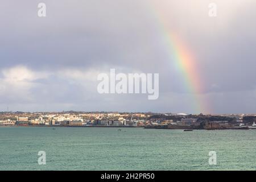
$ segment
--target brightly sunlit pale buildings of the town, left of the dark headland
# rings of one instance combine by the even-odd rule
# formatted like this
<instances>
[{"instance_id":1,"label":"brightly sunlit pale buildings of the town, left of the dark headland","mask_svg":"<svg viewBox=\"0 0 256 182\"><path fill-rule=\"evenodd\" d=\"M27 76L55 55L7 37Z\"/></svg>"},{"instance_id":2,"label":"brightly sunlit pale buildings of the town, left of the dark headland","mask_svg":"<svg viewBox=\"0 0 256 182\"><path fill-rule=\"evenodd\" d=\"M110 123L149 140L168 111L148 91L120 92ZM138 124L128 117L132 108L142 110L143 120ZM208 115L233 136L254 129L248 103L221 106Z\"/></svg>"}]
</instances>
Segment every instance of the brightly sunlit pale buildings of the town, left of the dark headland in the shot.
<instances>
[{"instance_id":1,"label":"brightly sunlit pale buildings of the town, left of the dark headland","mask_svg":"<svg viewBox=\"0 0 256 182\"><path fill-rule=\"evenodd\" d=\"M149 117L143 113L22 113L0 119L0 126L143 126Z\"/></svg>"}]
</instances>

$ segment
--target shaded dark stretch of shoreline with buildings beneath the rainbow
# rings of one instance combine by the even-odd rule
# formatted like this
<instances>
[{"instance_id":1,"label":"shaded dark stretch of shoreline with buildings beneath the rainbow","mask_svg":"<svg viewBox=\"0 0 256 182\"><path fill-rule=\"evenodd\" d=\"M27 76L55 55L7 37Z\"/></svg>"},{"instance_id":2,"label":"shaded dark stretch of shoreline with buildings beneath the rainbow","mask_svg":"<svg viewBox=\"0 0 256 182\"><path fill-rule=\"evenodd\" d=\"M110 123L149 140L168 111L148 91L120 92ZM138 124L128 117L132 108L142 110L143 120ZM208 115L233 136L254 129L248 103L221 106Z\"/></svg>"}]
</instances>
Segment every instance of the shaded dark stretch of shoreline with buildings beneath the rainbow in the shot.
<instances>
[{"instance_id":1,"label":"shaded dark stretch of shoreline with buildings beneath the rainbow","mask_svg":"<svg viewBox=\"0 0 256 182\"><path fill-rule=\"evenodd\" d=\"M223 115L153 115L154 122L146 123L147 129L256 129L254 114L223 114ZM172 118L172 119L167 119ZM151 119L152 120L152 119Z\"/></svg>"}]
</instances>

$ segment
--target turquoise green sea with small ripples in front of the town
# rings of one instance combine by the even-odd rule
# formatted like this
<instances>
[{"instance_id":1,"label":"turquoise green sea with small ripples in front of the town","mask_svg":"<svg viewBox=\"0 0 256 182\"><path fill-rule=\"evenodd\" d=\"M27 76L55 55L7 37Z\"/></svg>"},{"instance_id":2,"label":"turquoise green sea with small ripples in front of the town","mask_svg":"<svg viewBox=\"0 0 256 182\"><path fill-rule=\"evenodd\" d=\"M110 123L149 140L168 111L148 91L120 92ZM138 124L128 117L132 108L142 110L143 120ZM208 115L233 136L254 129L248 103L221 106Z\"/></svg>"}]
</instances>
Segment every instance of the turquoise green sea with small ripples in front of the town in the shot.
<instances>
[{"instance_id":1,"label":"turquoise green sea with small ripples in front of the town","mask_svg":"<svg viewBox=\"0 0 256 182\"><path fill-rule=\"evenodd\" d=\"M255 170L256 130L0 127L0 154L0 170Z\"/></svg>"}]
</instances>

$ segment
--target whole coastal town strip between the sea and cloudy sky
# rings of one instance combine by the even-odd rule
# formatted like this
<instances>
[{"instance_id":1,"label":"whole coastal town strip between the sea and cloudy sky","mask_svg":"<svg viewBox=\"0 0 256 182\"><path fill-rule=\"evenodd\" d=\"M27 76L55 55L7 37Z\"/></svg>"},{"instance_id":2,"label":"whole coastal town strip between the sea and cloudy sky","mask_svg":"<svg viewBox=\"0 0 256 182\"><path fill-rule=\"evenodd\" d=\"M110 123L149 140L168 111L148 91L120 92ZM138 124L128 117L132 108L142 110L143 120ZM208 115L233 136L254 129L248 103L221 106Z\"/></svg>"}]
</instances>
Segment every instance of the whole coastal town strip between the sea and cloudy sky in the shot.
<instances>
[{"instance_id":1,"label":"whole coastal town strip between the sea and cloudy sky","mask_svg":"<svg viewBox=\"0 0 256 182\"><path fill-rule=\"evenodd\" d=\"M1 112L0 126L144 127L145 129L256 129L256 114L118 112Z\"/></svg>"}]
</instances>

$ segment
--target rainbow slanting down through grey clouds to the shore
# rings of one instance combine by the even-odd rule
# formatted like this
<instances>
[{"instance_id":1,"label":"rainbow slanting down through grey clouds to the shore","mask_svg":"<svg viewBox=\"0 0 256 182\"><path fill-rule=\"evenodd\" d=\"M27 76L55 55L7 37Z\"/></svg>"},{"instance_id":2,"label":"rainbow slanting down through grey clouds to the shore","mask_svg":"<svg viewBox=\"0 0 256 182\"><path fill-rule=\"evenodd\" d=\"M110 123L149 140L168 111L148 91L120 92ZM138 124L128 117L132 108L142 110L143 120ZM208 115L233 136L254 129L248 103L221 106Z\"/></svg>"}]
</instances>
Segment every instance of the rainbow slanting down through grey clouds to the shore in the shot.
<instances>
[{"instance_id":1,"label":"rainbow slanting down through grey clouds to the shore","mask_svg":"<svg viewBox=\"0 0 256 182\"><path fill-rule=\"evenodd\" d=\"M187 93L191 95L190 102L194 113L209 112L205 101L199 96L200 93L203 93L203 82L197 70L199 67L196 64L195 56L185 46L184 41L167 27L163 16L160 16L160 13L156 13L156 9L151 10L153 10L156 22L159 24L160 34L164 42L166 42L168 56L183 77Z\"/></svg>"}]
</instances>

